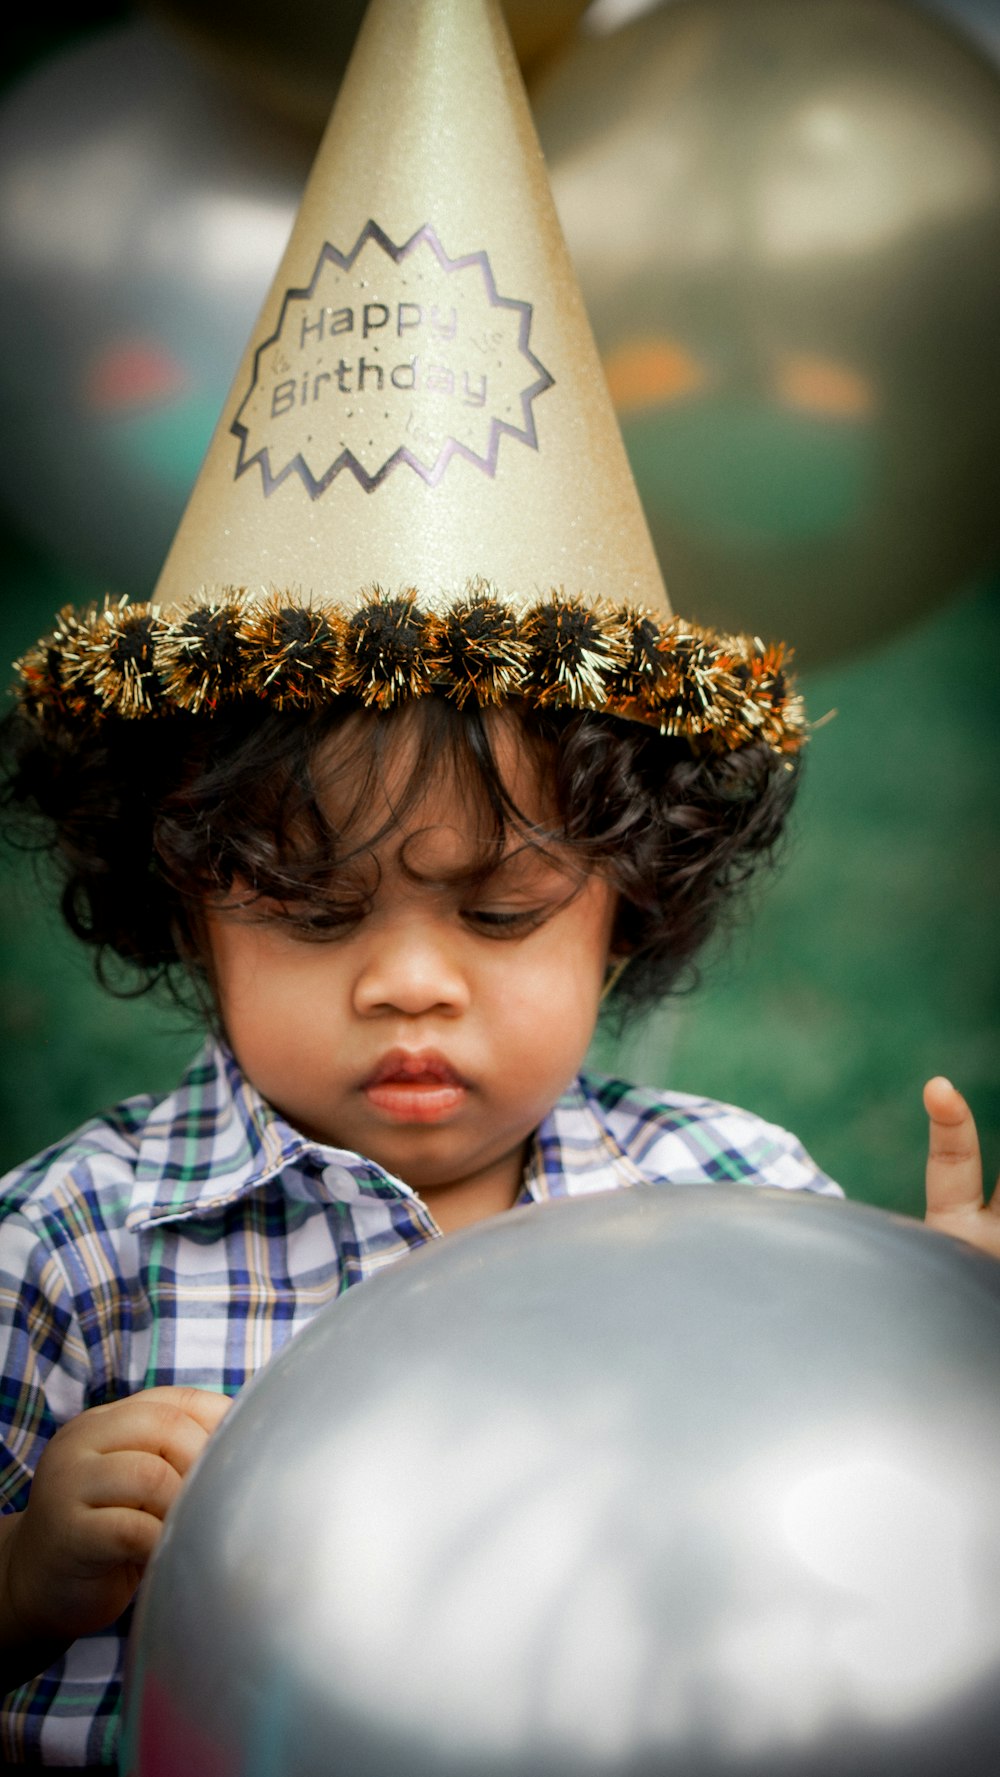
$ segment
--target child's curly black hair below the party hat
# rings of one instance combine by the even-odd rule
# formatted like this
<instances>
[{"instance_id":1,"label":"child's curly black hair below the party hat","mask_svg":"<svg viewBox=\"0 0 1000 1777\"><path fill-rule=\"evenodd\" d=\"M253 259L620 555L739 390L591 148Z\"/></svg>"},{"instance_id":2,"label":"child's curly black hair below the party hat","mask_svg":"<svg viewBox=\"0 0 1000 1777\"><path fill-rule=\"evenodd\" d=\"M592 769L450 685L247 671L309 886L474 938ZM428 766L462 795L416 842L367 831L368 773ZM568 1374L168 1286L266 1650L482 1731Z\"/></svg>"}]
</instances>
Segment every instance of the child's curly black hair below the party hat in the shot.
<instances>
[{"instance_id":1,"label":"child's curly black hair below the party hat","mask_svg":"<svg viewBox=\"0 0 1000 1777\"><path fill-rule=\"evenodd\" d=\"M9 837L52 853L62 913L94 945L112 992L167 984L211 1016L201 912L234 883L268 917L309 935L373 890L373 848L449 769L480 810L485 876L510 842L556 848L618 890L613 954L627 956L609 1000L622 1022L694 977L693 958L758 865L774 855L798 761L769 746L693 750L593 711L508 705L551 791L554 819L531 823L497 764L496 720L426 697L400 711L337 700L311 713L103 716L67 730L14 711L0 725ZM366 825L400 736L409 778L380 832ZM350 785L336 830L325 789ZM341 796L343 803L343 796ZM112 981L108 961L128 965Z\"/></svg>"}]
</instances>

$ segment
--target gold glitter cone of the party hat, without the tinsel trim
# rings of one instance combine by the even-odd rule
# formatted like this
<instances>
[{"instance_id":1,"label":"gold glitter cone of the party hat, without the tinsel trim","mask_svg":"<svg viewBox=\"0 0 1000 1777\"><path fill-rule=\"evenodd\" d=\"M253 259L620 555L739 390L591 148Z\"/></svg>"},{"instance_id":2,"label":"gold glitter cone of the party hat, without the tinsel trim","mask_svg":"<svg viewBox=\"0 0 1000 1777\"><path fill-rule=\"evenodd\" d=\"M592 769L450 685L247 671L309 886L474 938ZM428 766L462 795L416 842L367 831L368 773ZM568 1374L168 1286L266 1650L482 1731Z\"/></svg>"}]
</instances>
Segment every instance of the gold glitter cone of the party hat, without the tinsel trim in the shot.
<instances>
[{"instance_id":1,"label":"gold glitter cone of the party hat, without the tinsel trim","mask_svg":"<svg viewBox=\"0 0 1000 1777\"><path fill-rule=\"evenodd\" d=\"M156 586L664 610L499 5L371 0Z\"/></svg>"}]
</instances>

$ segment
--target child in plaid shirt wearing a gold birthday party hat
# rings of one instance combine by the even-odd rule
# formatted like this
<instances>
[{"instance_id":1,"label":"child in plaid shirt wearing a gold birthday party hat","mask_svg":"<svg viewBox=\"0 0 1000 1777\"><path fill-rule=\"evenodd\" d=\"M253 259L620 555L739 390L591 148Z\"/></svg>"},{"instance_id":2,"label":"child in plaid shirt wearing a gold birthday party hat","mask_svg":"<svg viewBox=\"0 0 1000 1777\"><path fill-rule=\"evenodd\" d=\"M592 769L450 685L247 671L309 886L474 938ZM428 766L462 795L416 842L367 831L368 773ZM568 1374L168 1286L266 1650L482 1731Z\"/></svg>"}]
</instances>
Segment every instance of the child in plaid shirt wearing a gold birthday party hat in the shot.
<instances>
[{"instance_id":1,"label":"child in plaid shirt wearing a gold birthday party hat","mask_svg":"<svg viewBox=\"0 0 1000 1777\"><path fill-rule=\"evenodd\" d=\"M579 1077L606 993L654 1004L773 853L805 730L776 650L670 617L496 30L472 0L373 9L323 201L345 142L355 172L373 163L355 151L373 116L407 121L414 179L419 119L474 55L456 215L407 236L323 224L316 258L311 187L158 602L64 613L21 663L9 803L44 823L73 929L194 995L210 1040L171 1098L130 1100L7 1180L11 1761L114 1761L128 1608L163 1516L227 1397L343 1288L515 1201L639 1180L837 1191L746 1112ZM503 243L488 263L440 249L471 229L483 140L508 197L513 179L517 249L545 236L554 256L568 345L538 265L529 306L497 295ZM353 254L329 245L348 236ZM471 293L432 302L469 274ZM352 366L337 316L362 336ZM393 382L421 327L435 339ZM345 396L332 418L323 377ZM442 421L455 389L503 418ZM556 394L535 434L533 402ZM291 451L300 402L313 430ZM419 450L389 451L403 435ZM359 595L368 558L403 590ZM483 560L535 590L501 597ZM261 574L350 597L240 590ZM538 594L552 581L572 590ZM961 1100L936 1082L929 1111L936 1214L996 1226Z\"/></svg>"}]
</instances>

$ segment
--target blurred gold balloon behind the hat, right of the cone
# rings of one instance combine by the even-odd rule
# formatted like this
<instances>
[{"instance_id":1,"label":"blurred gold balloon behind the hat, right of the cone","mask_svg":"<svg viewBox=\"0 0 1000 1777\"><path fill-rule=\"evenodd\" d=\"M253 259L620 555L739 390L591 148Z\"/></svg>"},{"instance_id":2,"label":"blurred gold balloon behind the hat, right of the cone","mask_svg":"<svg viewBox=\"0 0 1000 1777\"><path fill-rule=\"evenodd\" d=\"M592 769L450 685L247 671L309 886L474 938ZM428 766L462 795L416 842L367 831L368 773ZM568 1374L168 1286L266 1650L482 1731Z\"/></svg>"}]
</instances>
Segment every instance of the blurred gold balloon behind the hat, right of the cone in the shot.
<instances>
[{"instance_id":1,"label":"blurred gold balloon behind the hat, right of the cone","mask_svg":"<svg viewBox=\"0 0 1000 1777\"><path fill-rule=\"evenodd\" d=\"M1000 554L1000 78L909 0L670 0L533 92L675 610L812 665Z\"/></svg>"}]
</instances>

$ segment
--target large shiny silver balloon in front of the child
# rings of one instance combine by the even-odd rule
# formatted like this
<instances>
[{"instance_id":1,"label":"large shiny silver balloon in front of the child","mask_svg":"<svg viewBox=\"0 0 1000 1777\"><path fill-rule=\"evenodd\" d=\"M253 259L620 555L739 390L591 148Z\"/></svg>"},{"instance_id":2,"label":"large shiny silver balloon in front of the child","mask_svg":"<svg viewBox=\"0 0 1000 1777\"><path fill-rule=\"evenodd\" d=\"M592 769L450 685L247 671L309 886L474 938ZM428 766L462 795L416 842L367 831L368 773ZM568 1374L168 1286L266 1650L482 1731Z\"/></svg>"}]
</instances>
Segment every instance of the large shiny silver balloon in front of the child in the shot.
<instances>
[{"instance_id":1,"label":"large shiny silver balloon in front of the child","mask_svg":"<svg viewBox=\"0 0 1000 1777\"><path fill-rule=\"evenodd\" d=\"M124 1777L995 1777L1000 1265L739 1187L334 1303L167 1523Z\"/></svg>"}]
</instances>

